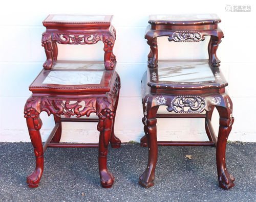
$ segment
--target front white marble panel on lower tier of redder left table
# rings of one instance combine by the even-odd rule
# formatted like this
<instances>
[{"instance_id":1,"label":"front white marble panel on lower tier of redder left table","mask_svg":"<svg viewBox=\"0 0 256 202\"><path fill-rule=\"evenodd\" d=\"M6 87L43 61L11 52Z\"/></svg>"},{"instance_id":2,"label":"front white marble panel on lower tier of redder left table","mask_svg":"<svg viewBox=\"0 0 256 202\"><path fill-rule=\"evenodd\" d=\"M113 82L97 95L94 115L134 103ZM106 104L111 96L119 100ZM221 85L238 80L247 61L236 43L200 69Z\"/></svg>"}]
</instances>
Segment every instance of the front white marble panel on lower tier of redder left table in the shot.
<instances>
[{"instance_id":1,"label":"front white marble panel on lower tier of redder left table","mask_svg":"<svg viewBox=\"0 0 256 202\"><path fill-rule=\"evenodd\" d=\"M103 71L51 71L43 84L100 84Z\"/></svg>"}]
</instances>

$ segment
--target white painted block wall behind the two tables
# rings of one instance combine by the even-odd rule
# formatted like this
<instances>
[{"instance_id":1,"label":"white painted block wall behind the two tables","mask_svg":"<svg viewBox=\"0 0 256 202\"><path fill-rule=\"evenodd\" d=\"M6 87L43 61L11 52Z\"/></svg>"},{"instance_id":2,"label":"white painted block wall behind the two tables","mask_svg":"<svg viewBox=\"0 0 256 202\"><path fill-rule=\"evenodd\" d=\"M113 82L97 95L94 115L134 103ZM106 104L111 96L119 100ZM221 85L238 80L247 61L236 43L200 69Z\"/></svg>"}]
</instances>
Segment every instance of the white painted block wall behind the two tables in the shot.
<instances>
[{"instance_id":1,"label":"white painted block wall behind the two tables","mask_svg":"<svg viewBox=\"0 0 256 202\"><path fill-rule=\"evenodd\" d=\"M206 2L209 2L208 4ZM251 12L227 12L225 7L251 6ZM28 86L42 69L46 56L41 47L42 21L48 14L112 14L117 31L114 53L121 77L121 94L116 116L116 135L122 142L138 141L143 136L140 80L146 70L149 46L144 32L150 14L216 13L225 38L217 55L229 83L233 102L231 141L256 141L254 85L256 42L255 1L4 1L0 18L1 135L0 141L30 141L24 105L31 95ZM207 40L199 43L174 43L159 39L159 59L207 58ZM202 53L201 50L204 50ZM93 53L93 54L92 54ZM103 60L103 44L60 45L59 60ZM161 111L165 111L164 107ZM41 114L42 139L53 128L53 117ZM214 114L218 130L218 113ZM159 119L159 140L207 140L200 119ZM96 123L63 123L62 141L97 142Z\"/></svg>"}]
</instances>

